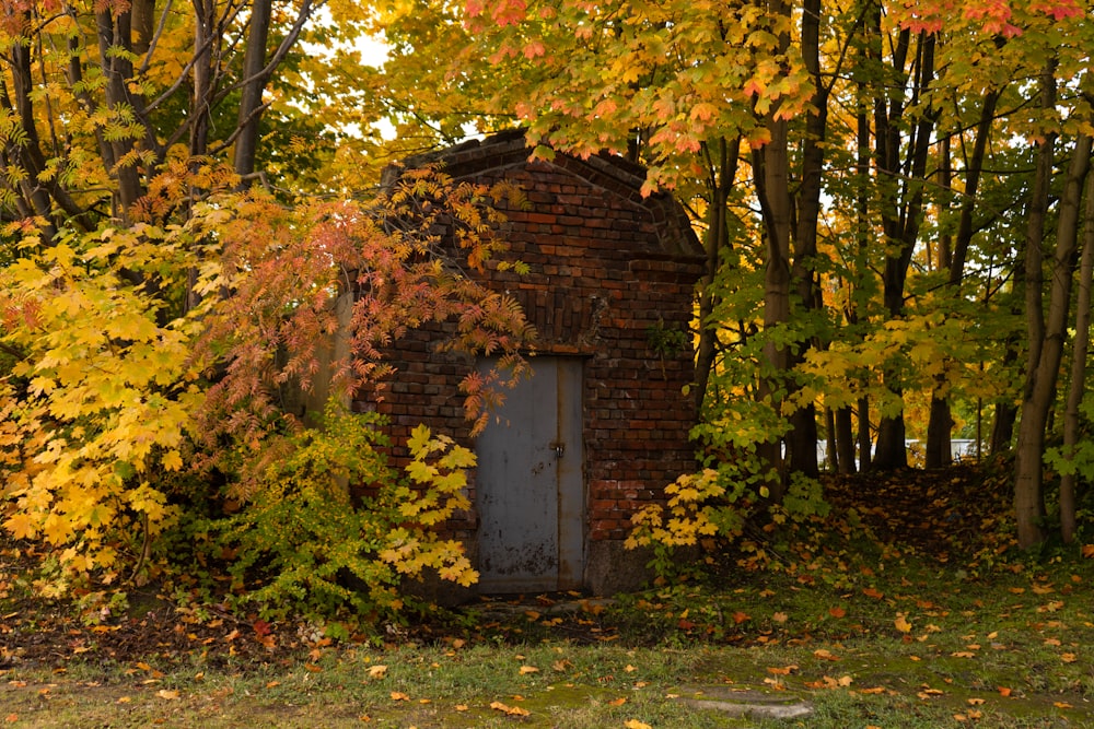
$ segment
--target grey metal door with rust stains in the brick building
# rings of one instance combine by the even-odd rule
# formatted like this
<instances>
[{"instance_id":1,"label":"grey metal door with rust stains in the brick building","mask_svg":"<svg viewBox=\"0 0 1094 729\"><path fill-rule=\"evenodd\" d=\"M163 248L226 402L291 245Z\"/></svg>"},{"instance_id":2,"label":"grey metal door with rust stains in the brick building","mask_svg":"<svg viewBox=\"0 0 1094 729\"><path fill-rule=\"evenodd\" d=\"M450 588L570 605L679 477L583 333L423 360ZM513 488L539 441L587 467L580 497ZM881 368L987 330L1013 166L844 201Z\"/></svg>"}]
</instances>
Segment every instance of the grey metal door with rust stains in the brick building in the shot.
<instances>
[{"instance_id":1,"label":"grey metal door with rust stains in the brick building","mask_svg":"<svg viewBox=\"0 0 1094 729\"><path fill-rule=\"evenodd\" d=\"M584 566L582 362L535 357L478 437L479 586L572 589Z\"/></svg>"}]
</instances>

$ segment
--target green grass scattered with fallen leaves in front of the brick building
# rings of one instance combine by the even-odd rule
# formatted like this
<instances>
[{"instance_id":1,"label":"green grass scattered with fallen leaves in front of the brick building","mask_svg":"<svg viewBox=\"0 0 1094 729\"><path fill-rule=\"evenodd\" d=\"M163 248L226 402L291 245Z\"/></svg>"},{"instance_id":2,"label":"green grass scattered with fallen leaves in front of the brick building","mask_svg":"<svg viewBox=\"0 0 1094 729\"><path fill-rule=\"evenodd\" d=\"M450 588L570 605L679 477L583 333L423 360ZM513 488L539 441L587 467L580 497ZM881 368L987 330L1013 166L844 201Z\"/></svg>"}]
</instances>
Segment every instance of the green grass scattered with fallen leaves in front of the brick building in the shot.
<instances>
[{"instance_id":1,"label":"green grass scattered with fallen leaves in front of the brick building","mask_svg":"<svg viewBox=\"0 0 1094 729\"><path fill-rule=\"evenodd\" d=\"M203 729L1094 726L1092 565L1075 558L977 575L891 556L843 572L818 566L665 586L572 613L515 607L508 620L465 619L440 638L434 631L431 643L315 646L268 662L211 661L197 652L117 663L92 650L3 671L0 721ZM684 701L743 690L805 701L814 713L730 719Z\"/></svg>"}]
</instances>

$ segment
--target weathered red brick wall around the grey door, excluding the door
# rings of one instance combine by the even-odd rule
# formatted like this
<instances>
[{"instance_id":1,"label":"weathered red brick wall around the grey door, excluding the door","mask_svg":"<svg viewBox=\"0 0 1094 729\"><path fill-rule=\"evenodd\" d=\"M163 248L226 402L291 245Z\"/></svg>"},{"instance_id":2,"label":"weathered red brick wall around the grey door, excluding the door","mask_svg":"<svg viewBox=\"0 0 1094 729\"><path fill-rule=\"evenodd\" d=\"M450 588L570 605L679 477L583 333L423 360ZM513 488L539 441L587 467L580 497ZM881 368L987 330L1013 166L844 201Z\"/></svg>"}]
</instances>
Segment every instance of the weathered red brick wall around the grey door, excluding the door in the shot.
<instances>
[{"instance_id":1,"label":"weathered red brick wall around the grey door, excluding the door","mask_svg":"<svg viewBox=\"0 0 1094 729\"><path fill-rule=\"evenodd\" d=\"M662 360L649 329L688 328L701 251L670 198L639 195L637 169L603 158L526 160L523 140L473 146L450 155L449 172L504 176L525 192L529 205L507 210L501 233L511 246L505 258L531 271L494 269L488 285L521 302L539 353L584 357L587 539L625 539L631 514L663 499L664 486L695 468L687 438L695 402L683 395L693 352ZM414 332L394 354L398 372L379 409L392 418L395 443L423 422L473 445L457 386L475 363L438 352L443 329ZM450 530L472 538L475 526L469 514Z\"/></svg>"}]
</instances>

